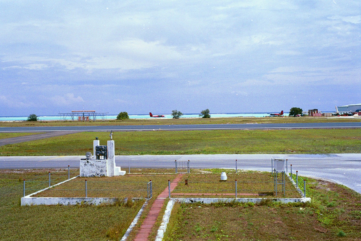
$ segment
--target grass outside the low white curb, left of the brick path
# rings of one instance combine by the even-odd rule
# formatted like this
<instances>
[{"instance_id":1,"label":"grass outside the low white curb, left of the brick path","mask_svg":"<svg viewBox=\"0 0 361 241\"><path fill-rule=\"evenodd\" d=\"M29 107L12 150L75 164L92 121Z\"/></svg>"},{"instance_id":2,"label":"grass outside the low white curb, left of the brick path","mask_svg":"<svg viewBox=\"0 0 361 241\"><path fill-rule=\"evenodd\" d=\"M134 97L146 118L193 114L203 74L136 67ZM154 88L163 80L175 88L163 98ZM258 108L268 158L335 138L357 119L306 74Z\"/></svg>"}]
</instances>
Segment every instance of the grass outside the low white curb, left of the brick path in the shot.
<instances>
[{"instance_id":1,"label":"grass outside the low white curb, left of the brick path","mask_svg":"<svg viewBox=\"0 0 361 241\"><path fill-rule=\"evenodd\" d=\"M19 206L22 180L47 173L0 170L1 240L118 240L143 204Z\"/></svg>"}]
</instances>

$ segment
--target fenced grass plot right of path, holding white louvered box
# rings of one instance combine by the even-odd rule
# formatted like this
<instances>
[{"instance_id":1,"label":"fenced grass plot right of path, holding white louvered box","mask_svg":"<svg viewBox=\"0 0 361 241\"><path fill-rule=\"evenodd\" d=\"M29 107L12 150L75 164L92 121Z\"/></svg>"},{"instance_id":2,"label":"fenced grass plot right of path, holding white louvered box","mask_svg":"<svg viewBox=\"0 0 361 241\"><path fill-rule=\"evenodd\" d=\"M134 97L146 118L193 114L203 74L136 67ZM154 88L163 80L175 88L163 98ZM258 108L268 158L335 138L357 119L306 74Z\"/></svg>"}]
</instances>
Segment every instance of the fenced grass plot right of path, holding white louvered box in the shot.
<instances>
[{"instance_id":1,"label":"fenced grass plot right of path, holding white louvered box","mask_svg":"<svg viewBox=\"0 0 361 241\"><path fill-rule=\"evenodd\" d=\"M188 185L185 185L186 179ZM226 182L221 182L220 179L219 174L185 174L172 193L197 193L199 195L173 194L171 197L235 198L235 179L237 179L238 198L260 198L258 195L241 195L242 193L276 197L273 192L274 183L271 173L229 173ZM204 195L205 193L234 195ZM282 186L279 185L277 197L300 198L300 194L286 177L286 196L282 192Z\"/></svg>"}]
</instances>

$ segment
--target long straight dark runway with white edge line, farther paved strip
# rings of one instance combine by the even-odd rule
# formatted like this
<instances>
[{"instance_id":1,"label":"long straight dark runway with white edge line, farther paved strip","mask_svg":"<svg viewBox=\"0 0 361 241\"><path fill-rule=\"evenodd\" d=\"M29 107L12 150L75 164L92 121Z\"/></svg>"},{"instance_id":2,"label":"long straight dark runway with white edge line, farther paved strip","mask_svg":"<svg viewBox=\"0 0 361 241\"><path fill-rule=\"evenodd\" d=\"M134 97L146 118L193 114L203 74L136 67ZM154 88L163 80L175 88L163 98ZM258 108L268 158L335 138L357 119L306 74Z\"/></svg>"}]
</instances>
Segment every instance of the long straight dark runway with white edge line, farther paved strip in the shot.
<instances>
[{"instance_id":1,"label":"long straight dark runway with white edge line, farther paved strip","mask_svg":"<svg viewBox=\"0 0 361 241\"><path fill-rule=\"evenodd\" d=\"M58 131L151 131L151 130L215 130L215 129L297 129L297 128L361 128L361 122L285 123L285 124L207 124L207 125L113 125L113 126L32 126L0 127L0 132Z\"/></svg>"}]
</instances>

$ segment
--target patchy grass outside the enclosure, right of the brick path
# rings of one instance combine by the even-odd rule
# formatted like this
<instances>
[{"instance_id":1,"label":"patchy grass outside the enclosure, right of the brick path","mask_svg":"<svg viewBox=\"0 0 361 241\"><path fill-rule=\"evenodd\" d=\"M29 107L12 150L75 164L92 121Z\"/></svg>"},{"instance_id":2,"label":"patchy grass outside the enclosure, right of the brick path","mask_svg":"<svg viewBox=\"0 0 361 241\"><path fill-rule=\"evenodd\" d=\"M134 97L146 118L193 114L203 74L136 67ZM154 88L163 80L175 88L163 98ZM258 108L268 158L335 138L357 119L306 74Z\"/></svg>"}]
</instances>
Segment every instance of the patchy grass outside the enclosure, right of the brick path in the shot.
<instances>
[{"instance_id":1,"label":"patchy grass outside the enclosure, right of the brick path","mask_svg":"<svg viewBox=\"0 0 361 241\"><path fill-rule=\"evenodd\" d=\"M302 179L311 203L178 204L164 240L360 240L361 194Z\"/></svg>"}]
</instances>

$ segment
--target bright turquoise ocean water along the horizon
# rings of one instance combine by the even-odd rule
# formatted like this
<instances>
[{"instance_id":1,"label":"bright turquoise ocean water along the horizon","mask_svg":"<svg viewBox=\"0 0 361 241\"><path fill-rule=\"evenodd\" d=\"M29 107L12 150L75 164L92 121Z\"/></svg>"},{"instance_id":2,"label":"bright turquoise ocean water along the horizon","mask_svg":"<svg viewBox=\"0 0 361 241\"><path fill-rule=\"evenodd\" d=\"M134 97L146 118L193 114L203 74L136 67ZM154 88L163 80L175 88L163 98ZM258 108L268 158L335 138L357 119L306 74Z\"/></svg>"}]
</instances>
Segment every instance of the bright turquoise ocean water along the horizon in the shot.
<instances>
[{"instance_id":1,"label":"bright turquoise ocean water along the horizon","mask_svg":"<svg viewBox=\"0 0 361 241\"><path fill-rule=\"evenodd\" d=\"M118 115L118 114L117 114ZM107 115L107 120L114 120L117 119L117 115ZM153 114L154 115L154 114ZM158 115L158 113L156 114ZM173 116L170 114L159 114L164 115L165 117L160 117L163 119L171 119ZM284 115L287 116L288 113L284 112ZM268 113L215 113L210 114L210 117L264 117L269 116ZM40 121L52 121L52 120L60 120L60 116L38 116ZM150 117L149 114L140 114L140 115L129 115L130 119L153 119L154 117ZM200 118L198 113L193 114L183 114L181 118ZM0 121L24 121L27 119L27 116L0 116ZM100 117L97 117L99 120ZM68 116L66 120L71 120Z\"/></svg>"}]
</instances>

